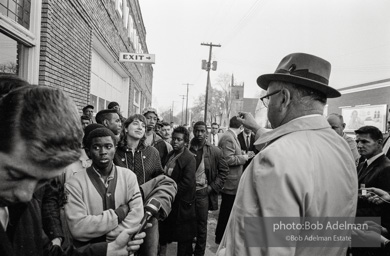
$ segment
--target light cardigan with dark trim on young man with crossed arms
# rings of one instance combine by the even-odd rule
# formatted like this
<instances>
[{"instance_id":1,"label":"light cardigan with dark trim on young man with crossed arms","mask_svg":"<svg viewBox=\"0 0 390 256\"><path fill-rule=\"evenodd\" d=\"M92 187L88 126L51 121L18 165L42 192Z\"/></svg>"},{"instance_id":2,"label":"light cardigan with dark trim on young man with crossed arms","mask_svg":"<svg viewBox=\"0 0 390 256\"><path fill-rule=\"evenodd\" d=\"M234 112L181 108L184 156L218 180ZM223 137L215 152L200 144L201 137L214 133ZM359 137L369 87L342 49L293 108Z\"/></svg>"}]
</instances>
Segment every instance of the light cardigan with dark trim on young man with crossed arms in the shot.
<instances>
[{"instance_id":1,"label":"light cardigan with dark trim on young man with crossed arms","mask_svg":"<svg viewBox=\"0 0 390 256\"><path fill-rule=\"evenodd\" d=\"M77 172L66 182L68 202L65 204L65 214L74 239L86 242L109 232L111 239L114 239L123 229L140 223L144 211L135 174L117 166L114 175L117 175L115 191L106 196L114 196L115 209L126 203L130 208L121 223L118 223L115 209L104 210L102 196L86 171Z\"/></svg>"}]
</instances>

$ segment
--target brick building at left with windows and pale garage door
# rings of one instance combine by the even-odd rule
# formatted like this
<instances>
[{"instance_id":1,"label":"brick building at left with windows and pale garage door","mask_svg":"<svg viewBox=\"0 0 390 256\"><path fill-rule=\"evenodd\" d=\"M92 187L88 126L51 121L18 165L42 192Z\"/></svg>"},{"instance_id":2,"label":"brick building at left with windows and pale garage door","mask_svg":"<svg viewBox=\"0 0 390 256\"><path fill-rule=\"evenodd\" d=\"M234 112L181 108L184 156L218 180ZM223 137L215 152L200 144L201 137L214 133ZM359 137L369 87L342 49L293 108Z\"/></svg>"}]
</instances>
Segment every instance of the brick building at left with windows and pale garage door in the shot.
<instances>
[{"instance_id":1,"label":"brick building at left with windows and pale garage door","mask_svg":"<svg viewBox=\"0 0 390 256\"><path fill-rule=\"evenodd\" d=\"M151 64L120 52L148 53L137 0L0 1L0 73L61 88L79 109L117 101L128 116L150 105Z\"/></svg>"}]
</instances>

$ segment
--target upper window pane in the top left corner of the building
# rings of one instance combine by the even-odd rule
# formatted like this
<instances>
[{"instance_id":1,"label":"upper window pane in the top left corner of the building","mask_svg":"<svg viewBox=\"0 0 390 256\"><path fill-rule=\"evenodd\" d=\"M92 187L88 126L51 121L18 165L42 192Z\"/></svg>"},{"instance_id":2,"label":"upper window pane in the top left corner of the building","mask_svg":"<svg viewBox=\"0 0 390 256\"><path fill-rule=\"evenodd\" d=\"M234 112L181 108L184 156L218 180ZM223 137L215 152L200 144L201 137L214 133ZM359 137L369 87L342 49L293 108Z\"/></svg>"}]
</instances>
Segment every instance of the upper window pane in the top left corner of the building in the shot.
<instances>
[{"instance_id":1,"label":"upper window pane in the top left corner of the building","mask_svg":"<svg viewBox=\"0 0 390 256\"><path fill-rule=\"evenodd\" d=\"M0 13L30 29L31 0L0 0Z\"/></svg>"}]
</instances>

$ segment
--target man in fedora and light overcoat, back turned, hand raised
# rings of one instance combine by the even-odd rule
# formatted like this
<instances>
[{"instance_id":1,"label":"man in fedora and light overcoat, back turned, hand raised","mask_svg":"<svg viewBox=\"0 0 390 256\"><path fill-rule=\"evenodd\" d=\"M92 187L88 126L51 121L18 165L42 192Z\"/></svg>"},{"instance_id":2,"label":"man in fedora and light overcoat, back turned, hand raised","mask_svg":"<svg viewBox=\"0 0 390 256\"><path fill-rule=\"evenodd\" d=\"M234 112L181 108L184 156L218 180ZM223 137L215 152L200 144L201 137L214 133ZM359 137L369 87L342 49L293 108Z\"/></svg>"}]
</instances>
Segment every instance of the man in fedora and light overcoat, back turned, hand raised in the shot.
<instances>
[{"instance_id":1,"label":"man in fedora and light overcoat, back turned, hand raised","mask_svg":"<svg viewBox=\"0 0 390 256\"><path fill-rule=\"evenodd\" d=\"M355 161L322 116L327 98L340 96L328 86L330 70L324 59L294 53L282 59L274 74L257 79L267 90L261 100L273 130L263 133L251 114L240 113L242 124L257 132L255 145L265 146L241 177L218 255L346 255L348 242L313 246L299 237L302 229L280 236L275 222L291 220L270 218L303 221L356 214Z\"/></svg>"}]
</instances>

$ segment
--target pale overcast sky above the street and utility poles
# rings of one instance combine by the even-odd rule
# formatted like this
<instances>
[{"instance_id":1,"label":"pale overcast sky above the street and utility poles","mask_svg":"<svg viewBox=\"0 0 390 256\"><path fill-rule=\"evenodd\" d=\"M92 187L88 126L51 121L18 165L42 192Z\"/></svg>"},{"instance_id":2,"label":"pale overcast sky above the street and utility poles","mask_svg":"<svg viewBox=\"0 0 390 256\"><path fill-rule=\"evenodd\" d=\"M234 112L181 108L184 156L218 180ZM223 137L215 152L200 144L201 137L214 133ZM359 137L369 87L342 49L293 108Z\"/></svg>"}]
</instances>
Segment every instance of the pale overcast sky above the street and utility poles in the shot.
<instances>
[{"instance_id":1,"label":"pale overcast sky above the street and utility poles","mask_svg":"<svg viewBox=\"0 0 390 256\"><path fill-rule=\"evenodd\" d=\"M293 52L317 55L332 64L330 85L343 88L390 78L389 0L140 0L149 53L156 54L153 105L160 111L175 101L181 111L205 93L201 70L213 48L211 83L234 74L245 83L244 97L256 97L256 79L273 73Z\"/></svg>"}]
</instances>

